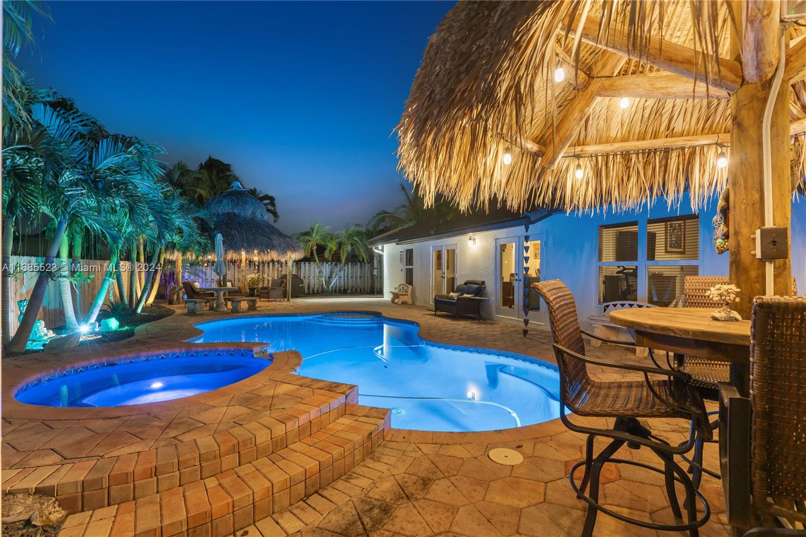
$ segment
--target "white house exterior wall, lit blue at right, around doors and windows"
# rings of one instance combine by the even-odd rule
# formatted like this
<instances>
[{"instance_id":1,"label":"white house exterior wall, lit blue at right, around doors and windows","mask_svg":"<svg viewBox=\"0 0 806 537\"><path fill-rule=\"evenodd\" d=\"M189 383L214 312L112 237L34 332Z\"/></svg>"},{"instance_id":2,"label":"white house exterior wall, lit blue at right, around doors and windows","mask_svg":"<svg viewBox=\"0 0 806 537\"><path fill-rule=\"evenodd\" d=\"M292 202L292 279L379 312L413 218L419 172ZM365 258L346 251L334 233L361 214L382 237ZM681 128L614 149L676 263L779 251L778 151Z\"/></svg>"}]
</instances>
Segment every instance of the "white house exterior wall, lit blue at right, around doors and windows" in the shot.
<instances>
[{"instance_id":1,"label":"white house exterior wall, lit blue at right, around doors and windows","mask_svg":"<svg viewBox=\"0 0 806 537\"><path fill-rule=\"evenodd\" d=\"M613 223L626 223L638 221L639 233L646 235L647 219L660 219L671 216L692 214L688 208L688 198L683 198L681 210L667 209L662 203L657 203L650 209L641 211L628 211L613 214L612 211L602 211L600 214L577 215L555 214L530 226L528 235L531 239L541 240L541 279L560 279L568 285L574 293L577 314L580 323L589 327L588 316L600 315L598 288L598 241L599 226ZM699 216L699 239L701 275L727 275L729 271L729 253L718 255L713 249L712 219L716 210L716 201L711 202ZM799 293L806 291L806 200L800 198L792 204L791 227L792 275L796 277ZM498 298L496 289L496 239L513 235L524 234L523 226L507 227L494 231L481 231L478 233L463 233L441 239L421 239L410 244L384 244L384 296L402 283L405 278L404 266L401 263L402 252L406 248L413 248L413 302L420 306L431 306L431 249L442 244L455 244L456 281L480 279L487 281L484 296L490 298L482 307L485 318L510 320L521 323L517 319L496 317L494 304ZM476 245L468 244L470 235L476 238ZM640 243L639 243L640 244ZM639 248L641 248L639 246ZM639 252L642 250L639 249ZM646 258L646 250L643 250ZM641 257L639 253L639 257ZM641 263L641 262L639 262ZM640 265L639 273L646 273L646 266ZM646 302L646 281L640 277L638 283L638 301ZM401 306L405 307L405 306ZM547 329L545 306L539 312L529 315L530 328L542 327ZM535 326L534 322L543 323Z\"/></svg>"}]
</instances>

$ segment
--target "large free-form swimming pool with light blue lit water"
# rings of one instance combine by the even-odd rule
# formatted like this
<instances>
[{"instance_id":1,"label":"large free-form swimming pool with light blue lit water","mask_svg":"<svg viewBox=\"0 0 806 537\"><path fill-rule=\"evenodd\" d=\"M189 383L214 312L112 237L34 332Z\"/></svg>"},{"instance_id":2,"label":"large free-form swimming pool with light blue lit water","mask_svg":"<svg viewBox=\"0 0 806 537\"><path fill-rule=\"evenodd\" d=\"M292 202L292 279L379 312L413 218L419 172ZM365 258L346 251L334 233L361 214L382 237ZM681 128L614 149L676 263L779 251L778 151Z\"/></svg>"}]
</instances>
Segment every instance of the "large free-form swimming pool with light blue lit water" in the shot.
<instances>
[{"instance_id":1,"label":"large free-form swimming pool with light blue lit water","mask_svg":"<svg viewBox=\"0 0 806 537\"><path fill-rule=\"evenodd\" d=\"M197 343L296 350L299 374L359 386L359 403L392 409L393 427L489 431L559 416L555 366L526 356L432 343L415 323L372 314L273 315L196 325ZM468 323L467 329L472 330Z\"/></svg>"}]
</instances>

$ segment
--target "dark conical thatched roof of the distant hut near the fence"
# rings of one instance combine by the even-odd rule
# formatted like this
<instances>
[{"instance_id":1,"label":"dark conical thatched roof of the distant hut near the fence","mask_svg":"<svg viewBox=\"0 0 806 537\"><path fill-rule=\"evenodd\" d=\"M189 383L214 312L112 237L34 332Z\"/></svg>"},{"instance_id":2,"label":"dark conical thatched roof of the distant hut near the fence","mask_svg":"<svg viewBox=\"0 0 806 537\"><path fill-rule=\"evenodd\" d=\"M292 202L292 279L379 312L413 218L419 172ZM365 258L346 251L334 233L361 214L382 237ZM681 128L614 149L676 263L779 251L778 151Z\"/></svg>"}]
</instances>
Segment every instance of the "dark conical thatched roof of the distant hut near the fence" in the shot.
<instances>
[{"instance_id":1,"label":"dark conical thatched roof of the distant hut near the fence","mask_svg":"<svg viewBox=\"0 0 806 537\"><path fill-rule=\"evenodd\" d=\"M242 252L247 258L259 260L300 259L302 245L285 235L268 221L268 213L259 200L251 196L238 181L205 205L214 214L211 238L221 233L225 256L240 260Z\"/></svg>"}]
</instances>

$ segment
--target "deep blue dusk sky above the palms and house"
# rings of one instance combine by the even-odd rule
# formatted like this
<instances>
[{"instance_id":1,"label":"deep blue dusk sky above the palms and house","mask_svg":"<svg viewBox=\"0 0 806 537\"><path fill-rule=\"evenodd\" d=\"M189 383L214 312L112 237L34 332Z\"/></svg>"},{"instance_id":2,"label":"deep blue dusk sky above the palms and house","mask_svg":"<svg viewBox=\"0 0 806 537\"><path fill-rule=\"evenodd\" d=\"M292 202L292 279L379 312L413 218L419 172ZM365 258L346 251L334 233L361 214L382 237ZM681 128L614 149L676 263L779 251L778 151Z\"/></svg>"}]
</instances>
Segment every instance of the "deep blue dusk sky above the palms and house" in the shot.
<instances>
[{"instance_id":1,"label":"deep blue dusk sky above the palms and house","mask_svg":"<svg viewBox=\"0 0 806 537\"><path fill-rule=\"evenodd\" d=\"M392 135L453 2L48 2L19 65L110 132L277 198L281 230L402 202ZM29 52L30 51L30 52Z\"/></svg>"}]
</instances>

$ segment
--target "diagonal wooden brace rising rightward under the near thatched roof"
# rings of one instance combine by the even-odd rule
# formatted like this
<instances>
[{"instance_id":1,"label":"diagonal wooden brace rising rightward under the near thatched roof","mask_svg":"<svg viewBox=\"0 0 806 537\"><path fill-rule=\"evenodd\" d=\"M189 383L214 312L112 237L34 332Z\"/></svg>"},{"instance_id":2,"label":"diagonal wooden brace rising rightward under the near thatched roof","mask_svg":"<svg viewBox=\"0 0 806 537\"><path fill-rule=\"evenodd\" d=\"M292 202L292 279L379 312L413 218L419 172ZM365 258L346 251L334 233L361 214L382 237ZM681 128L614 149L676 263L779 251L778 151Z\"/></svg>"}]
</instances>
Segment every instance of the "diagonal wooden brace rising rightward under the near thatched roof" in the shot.
<instances>
[{"instance_id":1,"label":"diagonal wooden brace rising rightward under the near thatched roof","mask_svg":"<svg viewBox=\"0 0 806 537\"><path fill-rule=\"evenodd\" d=\"M619 54L605 52L596 60L593 76L612 77L618 73L626 60L624 56ZM596 90L599 89L600 83L600 79L594 78L584 90L577 92L573 101L563 108L555 131L549 133L542 144L546 147L546 152L541 160L543 167L554 168L563 156L565 148L571 144L571 141L579 133L585 118L588 117L588 114L591 113L596 102L600 99L596 96Z\"/></svg>"}]
</instances>

